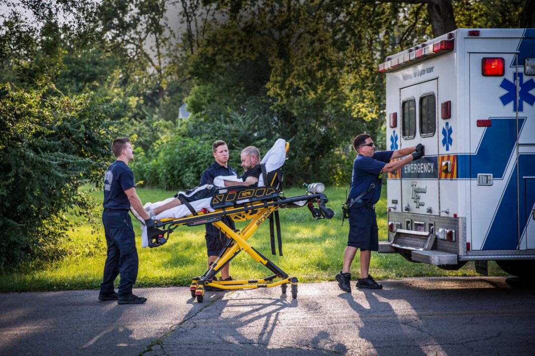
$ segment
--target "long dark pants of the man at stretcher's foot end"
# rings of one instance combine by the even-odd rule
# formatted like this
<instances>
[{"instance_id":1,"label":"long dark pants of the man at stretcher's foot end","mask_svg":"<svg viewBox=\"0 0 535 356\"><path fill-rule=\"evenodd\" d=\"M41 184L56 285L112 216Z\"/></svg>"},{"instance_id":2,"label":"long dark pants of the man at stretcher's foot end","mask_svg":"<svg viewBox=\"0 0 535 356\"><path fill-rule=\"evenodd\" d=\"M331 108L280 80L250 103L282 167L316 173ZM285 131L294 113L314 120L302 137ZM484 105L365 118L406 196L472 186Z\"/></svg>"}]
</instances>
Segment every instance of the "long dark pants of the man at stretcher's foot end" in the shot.
<instances>
[{"instance_id":1,"label":"long dark pants of the man at stretcher's foot end","mask_svg":"<svg viewBox=\"0 0 535 356\"><path fill-rule=\"evenodd\" d=\"M102 213L104 235L108 244L108 257L104 264L104 276L101 284L101 294L113 292L113 282L120 274L119 296L132 293L137 278L137 249L135 247L135 234L132 220L128 210L109 211Z\"/></svg>"}]
</instances>

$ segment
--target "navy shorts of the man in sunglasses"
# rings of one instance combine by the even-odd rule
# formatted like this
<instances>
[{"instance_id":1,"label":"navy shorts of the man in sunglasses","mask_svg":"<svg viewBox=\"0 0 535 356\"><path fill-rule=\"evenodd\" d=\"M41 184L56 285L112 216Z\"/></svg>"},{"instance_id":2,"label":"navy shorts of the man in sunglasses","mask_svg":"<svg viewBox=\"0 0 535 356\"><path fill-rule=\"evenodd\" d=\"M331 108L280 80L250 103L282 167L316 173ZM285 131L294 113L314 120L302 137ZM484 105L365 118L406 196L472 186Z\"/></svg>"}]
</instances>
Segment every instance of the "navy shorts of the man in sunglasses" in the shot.
<instances>
[{"instance_id":1,"label":"navy shorts of the man in sunglasses","mask_svg":"<svg viewBox=\"0 0 535 356\"><path fill-rule=\"evenodd\" d=\"M379 229L375 210L369 207L349 209L347 246L363 250L379 250Z\"/></svg>"}]
</instances>

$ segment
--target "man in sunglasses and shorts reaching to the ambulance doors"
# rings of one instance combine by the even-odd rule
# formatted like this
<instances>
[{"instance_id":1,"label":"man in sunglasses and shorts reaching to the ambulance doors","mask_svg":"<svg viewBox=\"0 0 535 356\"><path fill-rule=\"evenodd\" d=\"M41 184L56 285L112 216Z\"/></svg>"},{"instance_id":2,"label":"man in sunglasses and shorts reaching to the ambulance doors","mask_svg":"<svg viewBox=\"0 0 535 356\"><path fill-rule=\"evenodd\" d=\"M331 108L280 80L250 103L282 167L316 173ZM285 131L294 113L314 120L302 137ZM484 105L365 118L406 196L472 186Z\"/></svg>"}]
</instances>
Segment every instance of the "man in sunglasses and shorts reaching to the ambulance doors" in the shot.
<instances>
[{"instance_id":1,"label":"man in sunglasses and shorts reaching to the ambulance doors","mask_svg":"<svg viewBox=\"0 0 535 356\"><path fill-rule=\"evenodd\" d=\"M356 287L383 288L368 273L371 251L379 249L375 204L381 196L381 174L400 169L424 155L422 144L397 151L375 152L375 144L373 144L370 135L366 133L361 133L355 137L353 148L357 152L357 157L353 161L353 175L347 202L349 205L349 237L343 254L343 269L336 275L338 286L345 292L351 291L351 273L349 271L359 248L361 249L361 278L357 280ZM390 162L403 156L406 157L399 161Z\"/></svg>"}]
</instances>

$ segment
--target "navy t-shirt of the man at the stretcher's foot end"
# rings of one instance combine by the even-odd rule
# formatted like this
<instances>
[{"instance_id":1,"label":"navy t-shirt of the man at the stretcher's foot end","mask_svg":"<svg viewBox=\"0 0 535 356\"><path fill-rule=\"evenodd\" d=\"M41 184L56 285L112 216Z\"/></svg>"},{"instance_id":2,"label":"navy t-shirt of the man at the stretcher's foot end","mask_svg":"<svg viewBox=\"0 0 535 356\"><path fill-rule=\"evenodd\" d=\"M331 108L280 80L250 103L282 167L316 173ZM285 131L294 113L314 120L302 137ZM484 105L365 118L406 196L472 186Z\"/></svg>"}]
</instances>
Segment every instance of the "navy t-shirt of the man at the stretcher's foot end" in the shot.
<instances>
[{"instance_id":1,"label":"navy t-shirt of the man at the stretcher's foot end","mask_svg":"<svg viewBox=\"0 0 535 356\"><path fill-rule=\"evenodd\" d=\"M104 175L104 208L130 209L126 189L135 187L134 173L125 162L113 162Z\"/></svg>"}]
</instances>

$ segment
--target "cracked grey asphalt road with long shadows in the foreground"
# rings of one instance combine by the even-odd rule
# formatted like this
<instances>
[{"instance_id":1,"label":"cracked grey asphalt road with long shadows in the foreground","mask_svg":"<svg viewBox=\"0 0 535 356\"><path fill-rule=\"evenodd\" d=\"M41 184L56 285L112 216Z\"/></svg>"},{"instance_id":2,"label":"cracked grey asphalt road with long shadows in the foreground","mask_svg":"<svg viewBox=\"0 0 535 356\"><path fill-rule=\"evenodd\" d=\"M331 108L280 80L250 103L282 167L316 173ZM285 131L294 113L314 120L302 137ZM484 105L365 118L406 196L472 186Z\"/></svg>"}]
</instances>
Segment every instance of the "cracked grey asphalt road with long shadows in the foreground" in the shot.
<instances>
[{"instance_id":1,"label":"cracked grey asphalt road with long shadows in the foreground","mask_svg":"<svg viewBox=\"0 0 535 356\"><path fill-rule=\"evenodd\" d=\"M207 292L137 289L144 305L97 291L0 294L0 355L533 355L535 286L514 278L335 282Z\"/></svg>"}]
</instances>

